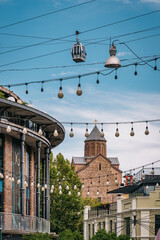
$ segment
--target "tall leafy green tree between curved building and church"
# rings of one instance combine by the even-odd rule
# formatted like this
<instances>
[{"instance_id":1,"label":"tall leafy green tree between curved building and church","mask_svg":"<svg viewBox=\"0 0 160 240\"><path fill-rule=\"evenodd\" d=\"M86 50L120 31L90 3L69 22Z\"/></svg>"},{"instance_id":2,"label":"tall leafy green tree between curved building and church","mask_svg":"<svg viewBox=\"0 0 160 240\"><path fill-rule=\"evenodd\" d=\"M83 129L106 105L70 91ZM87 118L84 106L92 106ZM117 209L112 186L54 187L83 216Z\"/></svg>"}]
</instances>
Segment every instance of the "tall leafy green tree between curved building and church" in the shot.
<instances>
[{"instance_id":1,"label":"tall leafy green tree between curved building and church","mask_svg":"<svg viewBox=\"0 0 160 240\"><path fill-rule=\"evenodd\" d=\"M50 194L51 232L79 230L83 211L82 198L78 196L81 182L69 160L65 160L60 153L50 163L50 182L51 186L54 186L53 193ZM60 194L60 186L62 194ZM69 190L66 189L67 186Z\"/></svg>"}]
</instances>

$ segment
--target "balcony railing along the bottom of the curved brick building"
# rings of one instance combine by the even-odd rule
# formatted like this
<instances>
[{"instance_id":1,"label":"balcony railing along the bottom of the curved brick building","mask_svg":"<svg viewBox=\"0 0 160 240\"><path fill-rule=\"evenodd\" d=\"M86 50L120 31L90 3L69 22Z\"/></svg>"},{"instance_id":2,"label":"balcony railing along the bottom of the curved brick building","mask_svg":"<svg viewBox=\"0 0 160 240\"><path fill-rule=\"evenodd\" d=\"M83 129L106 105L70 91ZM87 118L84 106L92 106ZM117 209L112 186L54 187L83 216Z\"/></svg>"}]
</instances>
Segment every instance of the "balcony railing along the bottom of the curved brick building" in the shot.
<instances>
[{"instance_id":1,"label":"balcony railing along the bottom of the curved brick building","mask_svg":"<svg viewBox=\"0 0 160 240\"><path fill-rule=\"evenodd\" d=\"M0 213L0 228L6 231L50 232L50 222L34 216L13 213Z\"/></svg>"}]
</instances>

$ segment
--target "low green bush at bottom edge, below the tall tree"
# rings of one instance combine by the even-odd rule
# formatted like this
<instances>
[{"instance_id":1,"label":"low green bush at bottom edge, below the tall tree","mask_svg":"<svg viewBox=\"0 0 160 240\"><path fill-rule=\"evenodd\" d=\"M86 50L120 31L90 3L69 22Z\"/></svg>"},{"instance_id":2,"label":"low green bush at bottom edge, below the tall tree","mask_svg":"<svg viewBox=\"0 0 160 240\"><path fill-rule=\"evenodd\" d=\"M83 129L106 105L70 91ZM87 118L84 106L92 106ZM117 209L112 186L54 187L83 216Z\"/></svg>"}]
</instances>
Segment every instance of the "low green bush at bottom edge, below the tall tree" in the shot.
<instances>
[{"instance_id":1,"label":"low green bush at bottom edge, below the tall tree","mask_svg":"<svg viewBox=\"0 0 160 240\"><path fill-rule=\"evenodd\" d=\"M75 231L72 233L71 230L66 229L59 234L58 240L84 240L83 236Z\"/></svg>"}]
</instances>

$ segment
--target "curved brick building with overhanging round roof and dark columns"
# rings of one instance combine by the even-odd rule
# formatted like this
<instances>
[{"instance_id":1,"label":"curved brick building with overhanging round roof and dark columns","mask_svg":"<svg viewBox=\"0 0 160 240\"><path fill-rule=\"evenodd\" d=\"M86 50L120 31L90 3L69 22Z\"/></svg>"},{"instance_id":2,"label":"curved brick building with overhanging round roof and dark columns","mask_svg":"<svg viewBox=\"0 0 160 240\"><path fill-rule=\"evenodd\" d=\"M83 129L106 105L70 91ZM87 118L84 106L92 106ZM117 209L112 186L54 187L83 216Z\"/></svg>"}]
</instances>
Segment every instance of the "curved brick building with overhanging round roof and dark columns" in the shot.
<instances>
[{"instance_id":1,"label":"curved brick building with overhanging round roof and dark columns","mask_svg":"<svg viewBox=\"0 0 160 240\"><path fill-rule=\"evenodd\" d=\"M50 232L49 154L65 131L8 89L0 94L0 229L3 239L18 240Z\"/></svg>"}]
</instances>

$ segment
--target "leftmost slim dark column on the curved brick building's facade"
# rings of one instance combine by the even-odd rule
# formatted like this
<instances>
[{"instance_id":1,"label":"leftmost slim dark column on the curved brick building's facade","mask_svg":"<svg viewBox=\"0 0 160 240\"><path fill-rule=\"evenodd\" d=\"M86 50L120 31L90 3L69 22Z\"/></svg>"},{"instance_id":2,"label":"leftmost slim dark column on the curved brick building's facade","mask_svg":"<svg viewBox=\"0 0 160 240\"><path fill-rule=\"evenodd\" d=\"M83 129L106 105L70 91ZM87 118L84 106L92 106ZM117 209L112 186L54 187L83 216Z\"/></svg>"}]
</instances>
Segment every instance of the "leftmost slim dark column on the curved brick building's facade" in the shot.
<instances>
[{"instance_id":1,"label":"leftmost slim dark column on the curved brick building's facade","mask_svg":"<svg viewBox=\"0 0 160 240\"><path fill-rule=\"evenodd\" d=\"M21 213L24 216L24 141L25 135L21 134Z\"/></svg>"}]
</instances>

